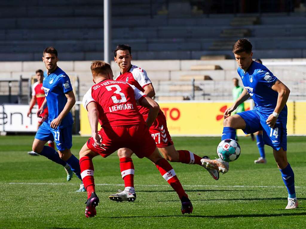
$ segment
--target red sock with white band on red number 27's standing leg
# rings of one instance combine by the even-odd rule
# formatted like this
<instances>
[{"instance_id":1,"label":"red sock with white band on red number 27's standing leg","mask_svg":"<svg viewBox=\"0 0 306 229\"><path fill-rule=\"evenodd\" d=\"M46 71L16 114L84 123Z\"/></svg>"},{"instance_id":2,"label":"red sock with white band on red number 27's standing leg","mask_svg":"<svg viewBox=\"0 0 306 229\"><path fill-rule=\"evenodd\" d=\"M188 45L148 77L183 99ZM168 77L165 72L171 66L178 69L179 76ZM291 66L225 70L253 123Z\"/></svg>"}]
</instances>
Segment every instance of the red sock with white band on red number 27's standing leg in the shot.
<instances>
[{"instance_id":1,"label":"red sock with white band on red number 27's standing leg","mask_svg":"<svg viewBox=\"0 0 306 229\"><path fill-rule=\"evenodd\" d=\"M134 187L134 164L132 158L120 158L120 171L125 187Z\"/></svg>"}]
</instances>

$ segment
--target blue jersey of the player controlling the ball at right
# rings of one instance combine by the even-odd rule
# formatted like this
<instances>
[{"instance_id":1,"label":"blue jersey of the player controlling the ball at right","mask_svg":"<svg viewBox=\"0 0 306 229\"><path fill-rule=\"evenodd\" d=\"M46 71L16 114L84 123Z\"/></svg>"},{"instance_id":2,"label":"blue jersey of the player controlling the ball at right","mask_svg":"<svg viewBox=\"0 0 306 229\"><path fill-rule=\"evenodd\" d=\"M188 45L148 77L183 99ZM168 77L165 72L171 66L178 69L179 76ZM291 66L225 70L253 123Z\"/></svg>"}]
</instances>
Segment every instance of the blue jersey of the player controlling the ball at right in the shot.
<instances>
[{"instance_id":1,"label":"blue jersey of the player controlling the ball at right","mask_svg":"<svg viewBox=\"0 0 306 229\"><path fill-rule=\"evenodd\" d=\"M254 100L255 107L264 114L271 115L276 107L278 93L271 89L278 80L266 66L255 61L246 72L238 67L237 72L242 83ZM287 117L287 105L280 113L280 118Z\"/></svg>"}]
</instances>

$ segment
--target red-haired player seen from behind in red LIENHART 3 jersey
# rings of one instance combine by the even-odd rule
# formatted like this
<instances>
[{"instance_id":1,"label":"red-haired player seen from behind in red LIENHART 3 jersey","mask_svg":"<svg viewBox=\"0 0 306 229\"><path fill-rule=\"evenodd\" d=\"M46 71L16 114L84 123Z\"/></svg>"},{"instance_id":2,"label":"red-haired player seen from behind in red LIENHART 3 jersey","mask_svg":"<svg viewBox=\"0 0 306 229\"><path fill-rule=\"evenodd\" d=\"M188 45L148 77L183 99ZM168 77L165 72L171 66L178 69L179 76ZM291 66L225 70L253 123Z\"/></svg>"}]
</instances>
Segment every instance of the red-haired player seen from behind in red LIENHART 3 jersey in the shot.
<instances>
[{"instance_id":1,"label":"red-haired player seen from behind in red LIENHART 3 jersey","mask_svg":"<svg viewBox=\"0 0 306 229\"><path fill-rule=\"evenodd\" d=\"M99 203L99 198L95 194L92 158L99 154L106 158L122 147L130 148L139 158L150 159L177 192L182 203L182 213L192 213L188 195L172 166L162 158L149 133L148 126L158 115L159 105L134 86L113 80L110 65L104 61L93 61L91 73L95 85L84 95L83 106L88 110L92 137L80 150L81 176L88 195L85 216L95 216L95 207ZM149 110L146 122L137 109L136 101ZM102 126L99 132L98 122Z\"/></svg>"}]
</instances>

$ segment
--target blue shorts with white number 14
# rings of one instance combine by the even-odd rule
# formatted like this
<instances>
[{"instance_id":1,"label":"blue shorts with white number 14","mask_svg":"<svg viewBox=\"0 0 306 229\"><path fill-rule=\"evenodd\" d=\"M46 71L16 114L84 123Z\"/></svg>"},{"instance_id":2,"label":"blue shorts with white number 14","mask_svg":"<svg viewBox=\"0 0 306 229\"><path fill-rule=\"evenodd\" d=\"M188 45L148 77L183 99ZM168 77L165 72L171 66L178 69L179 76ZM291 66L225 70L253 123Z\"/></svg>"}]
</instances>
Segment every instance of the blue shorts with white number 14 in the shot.
<instances>
[{"instance_id":1,"label":"blue shorts with white number 14","mask_svg":"<svg viewBox=\"0 0 306 229\"><path fill-rule=\"evenodd\" d=\"M282 147L287 151L287 119L278 118L274 128L272 129L266 123L269 115L263 114L257 110L244 111L237 113L246 123L243 132L245 134L255 133L259 130L263 131L264 144L271 146L274 150L280 150Z\"/></svg>"}]
</instances>

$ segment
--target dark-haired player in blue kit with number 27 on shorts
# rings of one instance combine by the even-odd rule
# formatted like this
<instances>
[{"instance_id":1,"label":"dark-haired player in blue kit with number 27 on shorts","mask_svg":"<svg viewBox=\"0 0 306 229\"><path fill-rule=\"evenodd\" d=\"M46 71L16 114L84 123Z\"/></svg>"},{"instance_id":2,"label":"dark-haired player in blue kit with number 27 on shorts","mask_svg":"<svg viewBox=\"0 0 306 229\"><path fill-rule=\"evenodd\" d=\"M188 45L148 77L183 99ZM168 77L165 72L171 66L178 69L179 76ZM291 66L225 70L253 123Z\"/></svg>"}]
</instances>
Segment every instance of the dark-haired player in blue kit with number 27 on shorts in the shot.
<instances>
[{"instance_id":1,"label":"dark-haired player in blue kit with number 27 on shorts","mask_svg":"<svg viewBox=\"0 0 306 229\"><path fill-rule=\"evenodd\" d=\"M75 104L75 97L68 75L57 66L58 53L53 47L43 51L43 62L47 70L43 77L45 100L37 111L37 116L48 107L48 119L39 126L33 142L33 151L43 155L53 162L71 169L81 179L79 160L71 153L73 118L70 113ZM53 140L58 152L46 142ZM69 174L68 174L69 175ZM67 180L71 176L67 176ZM78 191L85 191L83 183Z\"/></svg>"}]
</instances>

